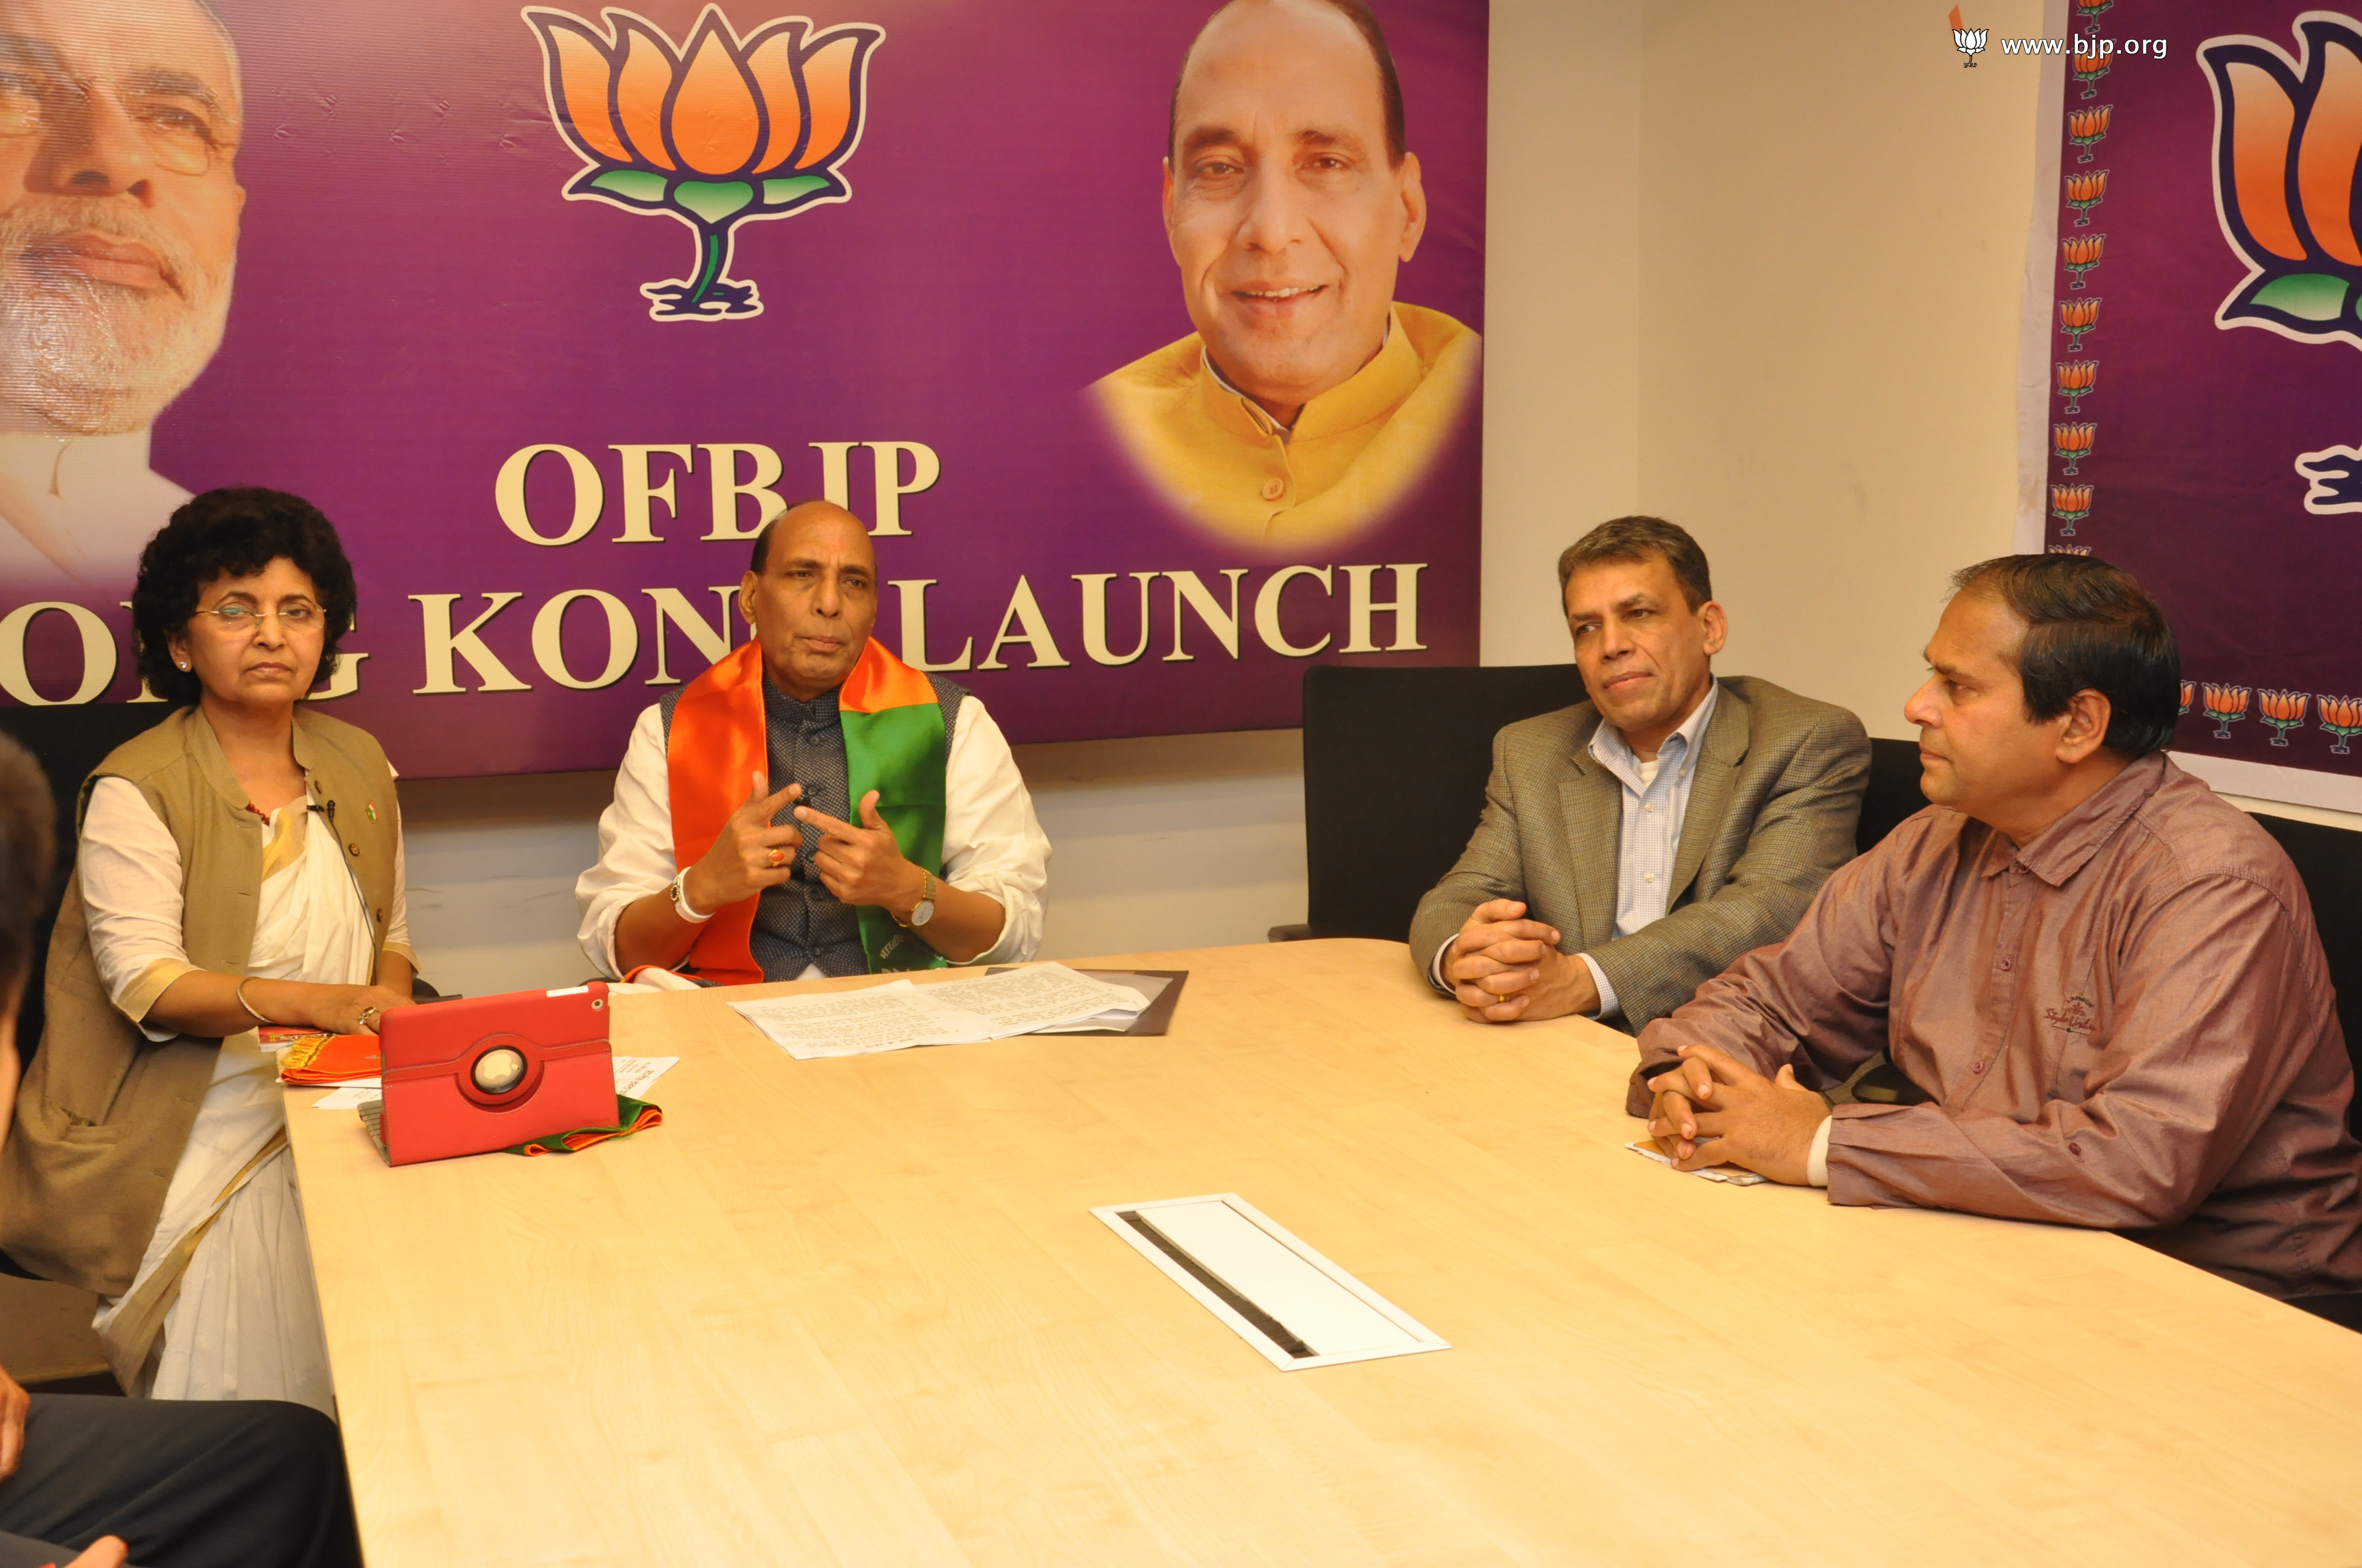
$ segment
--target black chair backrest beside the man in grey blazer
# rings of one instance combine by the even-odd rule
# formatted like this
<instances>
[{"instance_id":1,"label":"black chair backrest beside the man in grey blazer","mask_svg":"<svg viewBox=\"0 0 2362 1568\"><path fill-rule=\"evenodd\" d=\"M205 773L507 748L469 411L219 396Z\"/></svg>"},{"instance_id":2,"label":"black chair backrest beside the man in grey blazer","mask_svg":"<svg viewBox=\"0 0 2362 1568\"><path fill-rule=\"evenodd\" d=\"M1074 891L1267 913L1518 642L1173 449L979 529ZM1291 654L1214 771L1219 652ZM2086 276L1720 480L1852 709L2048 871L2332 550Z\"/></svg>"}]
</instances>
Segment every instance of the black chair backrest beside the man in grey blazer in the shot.
<instances>
[{"instance_id":1,"label":"black chair backrest beside the man in grey blazer","mask_svg":"<svg viewBox=\"0 0 2362 1568\"><path fill-rule=\"evenodd\" d=\"M1304 671L1313 935L1401 942L1476 831L1493 734L1578 701L1573 664Z\"/></svg>"}]
</instances>

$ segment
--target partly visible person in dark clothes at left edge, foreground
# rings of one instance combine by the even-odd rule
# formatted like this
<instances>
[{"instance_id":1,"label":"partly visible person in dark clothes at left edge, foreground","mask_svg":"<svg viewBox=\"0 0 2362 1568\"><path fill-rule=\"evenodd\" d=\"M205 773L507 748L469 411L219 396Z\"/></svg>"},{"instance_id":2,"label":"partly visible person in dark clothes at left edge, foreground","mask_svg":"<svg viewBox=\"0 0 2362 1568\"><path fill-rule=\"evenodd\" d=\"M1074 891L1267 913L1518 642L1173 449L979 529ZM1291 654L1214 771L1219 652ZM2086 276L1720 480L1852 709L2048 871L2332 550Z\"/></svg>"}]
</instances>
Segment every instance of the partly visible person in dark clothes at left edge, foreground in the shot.
<instances>
[{"instance_id":1,"label":"partly visible person in dark clothes at left edge, foreground","mask_svg":"<svg viewBox=\"0 0 2362 1568\"><path fill-rule=\"evenodd\" d=\"M0 1105L50 890L50 784L0 739ZM7 1148L0 1117L0 1152ZM0 1568L357 1568L345 1448L279 1400L26 1393L0 1370ZM73 1556L80 1551L83 1556Z\"/></svg>"}]
</instances>

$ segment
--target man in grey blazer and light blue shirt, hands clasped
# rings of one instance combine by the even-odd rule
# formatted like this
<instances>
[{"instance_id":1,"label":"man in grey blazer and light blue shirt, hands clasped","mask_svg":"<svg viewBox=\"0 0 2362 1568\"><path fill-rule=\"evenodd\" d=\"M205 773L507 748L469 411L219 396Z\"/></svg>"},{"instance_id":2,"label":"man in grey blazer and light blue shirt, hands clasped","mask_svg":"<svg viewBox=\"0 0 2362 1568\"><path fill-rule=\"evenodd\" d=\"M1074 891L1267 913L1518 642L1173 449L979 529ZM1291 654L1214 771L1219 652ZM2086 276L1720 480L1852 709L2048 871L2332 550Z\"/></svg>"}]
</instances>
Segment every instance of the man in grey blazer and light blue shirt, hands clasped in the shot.
<instances>
[{"instance_id":1,"label":"man in grey blazer and light blue shirt, hands clasped","mask_svg":"<svg viewBox=\"0 0 2362 1568\"><path fill-rule=\"evenodd\" d=\"M1854 857L1871 739L1845 708L1715 678L1705 553L1660 517L1568 545L1559 593L1592 701L1493 737L1476 836L1410 956L1469 1018L1637 1032L1783 940Z\"/></svg>"}]
</instances>

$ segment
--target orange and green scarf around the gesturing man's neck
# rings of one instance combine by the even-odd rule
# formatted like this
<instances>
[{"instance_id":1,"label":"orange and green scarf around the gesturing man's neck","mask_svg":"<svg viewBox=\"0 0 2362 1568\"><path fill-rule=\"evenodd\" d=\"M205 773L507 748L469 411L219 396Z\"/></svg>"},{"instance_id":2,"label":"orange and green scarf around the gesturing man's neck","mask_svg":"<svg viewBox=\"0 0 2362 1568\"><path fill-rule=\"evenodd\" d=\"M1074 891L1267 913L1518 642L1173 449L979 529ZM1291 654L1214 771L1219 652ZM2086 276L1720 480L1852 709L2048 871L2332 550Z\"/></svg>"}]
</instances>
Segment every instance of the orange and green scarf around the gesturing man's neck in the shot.
<instances>
[{"instance_id":1,"label":"orange and green scarf around the gesturing man's neck","mask_svg":"<svg viewBox=\"0 0 2362 1568\"><path fill-rule=\"evenodd\" d=\"M853 789L846 810L857 819L862 796L879 791L879 815L902 857L940 878L950 739L935 687L869 638L836 692L836 711ZM673 798L673 864L690 867L720 838L730 812L746 803L746 777L770 772L761 642L739 645L680 692L664 760ZM784 779L772 779L772 789L784 786ZM758 985L763 971L749 945L756 902L746 897L718 909L697 933L683 968L720 985ZM942 966L942 954L883 909L862 904L860 926L872 975Z\"/></svg>"}]
</instances>

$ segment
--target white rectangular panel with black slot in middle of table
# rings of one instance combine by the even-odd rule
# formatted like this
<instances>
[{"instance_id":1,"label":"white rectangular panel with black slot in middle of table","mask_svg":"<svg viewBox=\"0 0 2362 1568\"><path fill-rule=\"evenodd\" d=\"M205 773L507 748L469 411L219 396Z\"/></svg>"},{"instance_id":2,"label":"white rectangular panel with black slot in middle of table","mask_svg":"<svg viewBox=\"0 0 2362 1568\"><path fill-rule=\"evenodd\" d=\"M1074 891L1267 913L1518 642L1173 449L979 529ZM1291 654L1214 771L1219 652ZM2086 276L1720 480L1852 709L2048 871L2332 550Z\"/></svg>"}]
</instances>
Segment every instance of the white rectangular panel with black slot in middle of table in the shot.
<instances>
[{"instance_id":1,"label":"white rectangular panel with black slot in middle of table","mask_svg":"<svg viewBox=\"0 0 2362 1568\"><path fill-rule=\"evenodd\" d=\"M1283 1372L1450 1348L1238 1193L1091 1214Z\"/></svg>"}]
</instances>

